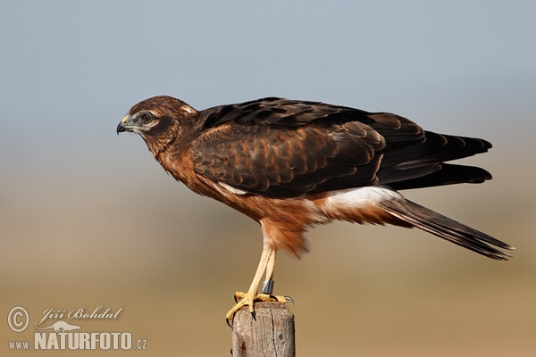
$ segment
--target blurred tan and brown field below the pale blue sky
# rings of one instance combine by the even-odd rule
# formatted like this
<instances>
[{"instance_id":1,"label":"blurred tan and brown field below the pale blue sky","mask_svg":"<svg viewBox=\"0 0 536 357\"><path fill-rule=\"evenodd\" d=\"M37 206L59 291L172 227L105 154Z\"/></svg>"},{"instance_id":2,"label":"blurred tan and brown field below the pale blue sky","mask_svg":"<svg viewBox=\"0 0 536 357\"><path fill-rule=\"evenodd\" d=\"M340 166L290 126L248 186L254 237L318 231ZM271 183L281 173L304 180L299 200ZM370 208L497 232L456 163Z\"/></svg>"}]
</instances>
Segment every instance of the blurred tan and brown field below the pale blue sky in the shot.
<instances>
[{"instance_id":1,"label":"blurred tan and brown field below the pale blue sky","mask_svg":"<svg viewBox=\"0 0 536 357\"><path fill-rule=\"evenodd\" d=\"M30 184L24 175L6 175L0 309L22 305L37 320L48 308L103 304L122 308L120 319L79 320L85 331L130 331L148 341L147 352L113 355L227 355L223 314L252 277L260 229L166 177L138 138L121 140L138 144L132 155L140 156L139 171L125 160L103 164L93 179L72 173ZM485 185L406 195L517 246L510 262L416 230L344 223L309 232L312 250L301 261L280 254L276 292L297 302L297 353L536 353L536 195L521 188L530 187L534 172L523 158L508 157L495 150L469 161L492 170L495 179ZM1 343L31 330L4 327Z\"/></svg>"}]
</instances>

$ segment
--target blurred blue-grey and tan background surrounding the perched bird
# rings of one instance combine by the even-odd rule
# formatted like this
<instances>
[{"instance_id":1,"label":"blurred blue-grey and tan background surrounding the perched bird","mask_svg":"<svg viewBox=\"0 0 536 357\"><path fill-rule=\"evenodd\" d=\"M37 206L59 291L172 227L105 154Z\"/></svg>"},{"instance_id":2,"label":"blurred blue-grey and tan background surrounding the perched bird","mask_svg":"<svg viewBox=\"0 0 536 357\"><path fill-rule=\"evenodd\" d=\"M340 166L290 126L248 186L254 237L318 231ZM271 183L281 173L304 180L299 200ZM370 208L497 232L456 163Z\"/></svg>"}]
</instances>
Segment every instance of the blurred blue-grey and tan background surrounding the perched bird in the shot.
<instances>
[{"instance_id":1,"label":"blurred blue-grey and tan background surrounding the perched bird","mask_svg":"<svg viewBox=\"0 0 536 357\"><path fill-rule=\"evenodd\" d=\"M314 228L311 252L276 267L297 354L533 355L534 13L533 1L2 1L0 314L21 305L30 327L4 322L0 354L20 354L7 342L31 340L46 309L104 305L119 319L68 321L148 348L107 355L229 355L223 316L251 281L260 228L115 127L152 95L197 109L277 95L490 140L464 161L490 182L405 195L517 247L495 262L415 229Z\"/></svg>"}]
</instances>

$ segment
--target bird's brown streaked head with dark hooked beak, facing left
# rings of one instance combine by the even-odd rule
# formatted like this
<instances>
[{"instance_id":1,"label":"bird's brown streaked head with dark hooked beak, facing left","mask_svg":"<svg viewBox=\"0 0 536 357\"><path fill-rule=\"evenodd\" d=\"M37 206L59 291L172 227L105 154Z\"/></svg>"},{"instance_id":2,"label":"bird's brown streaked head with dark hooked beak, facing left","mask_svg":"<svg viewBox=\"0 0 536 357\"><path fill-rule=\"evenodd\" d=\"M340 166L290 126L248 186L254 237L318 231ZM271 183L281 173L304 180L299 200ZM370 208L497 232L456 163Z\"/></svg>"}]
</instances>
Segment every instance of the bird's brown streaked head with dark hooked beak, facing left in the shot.
<instances>
[{"instance_id":1,"label":"bird's brown streaked head with dark hooked beak, facing left","mask_svg":"<svg viewBox=\"0 0 536 357\"><path fill-rule=\"evenodd\" d=\"M134 105L117 126L138 133L156 155L177 138L185 139L197 122L197 111L177 98L153 96Z\"/></svg>"}]
</instances>

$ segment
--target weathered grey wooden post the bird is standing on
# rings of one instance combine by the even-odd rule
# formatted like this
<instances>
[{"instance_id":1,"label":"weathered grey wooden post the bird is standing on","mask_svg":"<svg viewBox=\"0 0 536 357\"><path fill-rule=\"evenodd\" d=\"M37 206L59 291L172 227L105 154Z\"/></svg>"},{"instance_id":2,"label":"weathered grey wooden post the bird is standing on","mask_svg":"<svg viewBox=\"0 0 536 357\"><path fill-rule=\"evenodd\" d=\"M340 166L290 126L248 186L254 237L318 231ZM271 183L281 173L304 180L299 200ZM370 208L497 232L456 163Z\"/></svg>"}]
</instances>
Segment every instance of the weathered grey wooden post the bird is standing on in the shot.
<instances>
[{"instance_id":1,"label":"weathered grey wooden post the bird is standing on","mask_svg":"<svg viewBox=\"0 0 536 357\"><path fill-rule=\"evenodd\" d=\"M233 357L294 357L294 315L284 303L255 303L255 320L244 306L232 326Z\"/></svg>"}]
</instances>

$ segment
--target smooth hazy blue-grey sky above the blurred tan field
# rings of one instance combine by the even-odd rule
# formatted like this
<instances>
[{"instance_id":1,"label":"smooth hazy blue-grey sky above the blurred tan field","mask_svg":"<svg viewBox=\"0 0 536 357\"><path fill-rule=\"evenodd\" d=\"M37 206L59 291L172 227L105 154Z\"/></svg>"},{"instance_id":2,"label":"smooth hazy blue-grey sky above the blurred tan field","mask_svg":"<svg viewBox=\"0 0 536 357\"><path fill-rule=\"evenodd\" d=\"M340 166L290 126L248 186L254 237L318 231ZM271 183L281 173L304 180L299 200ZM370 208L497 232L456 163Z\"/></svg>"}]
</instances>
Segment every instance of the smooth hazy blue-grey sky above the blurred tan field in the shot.
<instances>
[{"instance_id":1,"label":"smooth hazy blue-grey sky above the blurred tan field","mask_svg":"<svg viewBox=\"0 0 536 357\"><path fill-rule=\"evenodd\" d=\"M141 150L114 128L163 94L197 109L317 100L507 144L535 126L534 13L532 1L4 1L0 159L16 178L15 162L60 170Z\"/></svg>"}]
</instances>

